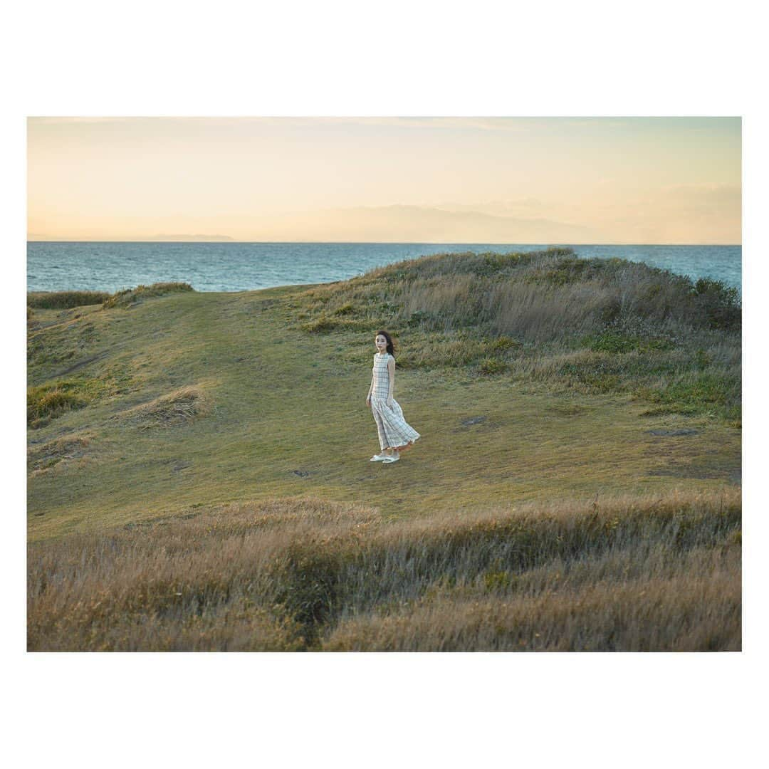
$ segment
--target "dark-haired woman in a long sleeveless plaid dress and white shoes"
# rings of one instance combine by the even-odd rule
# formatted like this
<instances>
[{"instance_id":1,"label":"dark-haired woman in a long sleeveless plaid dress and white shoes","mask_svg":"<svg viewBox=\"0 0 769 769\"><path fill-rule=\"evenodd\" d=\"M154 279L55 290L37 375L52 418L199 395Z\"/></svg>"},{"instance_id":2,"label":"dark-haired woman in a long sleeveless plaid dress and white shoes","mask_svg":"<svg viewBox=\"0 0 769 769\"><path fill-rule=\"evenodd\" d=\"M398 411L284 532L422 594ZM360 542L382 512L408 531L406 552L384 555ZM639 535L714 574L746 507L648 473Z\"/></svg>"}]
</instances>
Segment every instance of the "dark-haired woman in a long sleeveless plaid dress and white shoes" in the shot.
<instances>
[{"instance_id":1,"label":"dark-haired woman in a long sleeveless plaid dress and white shoes","mask_svg":"<svg viewBox=\"0 0 769 769\"><path fill-rule=\"evenodd\" d=\"M401 451L411 448L419 433L407 424L403 411L393 397L395 387L395 358L392 338L387 331L377 331L374 339L377 353L371 373L371 387L368 388L366 405L371 407L379 433L379 454L371 457L372 462L397 462Z\"/></svg>"}]
</instances>

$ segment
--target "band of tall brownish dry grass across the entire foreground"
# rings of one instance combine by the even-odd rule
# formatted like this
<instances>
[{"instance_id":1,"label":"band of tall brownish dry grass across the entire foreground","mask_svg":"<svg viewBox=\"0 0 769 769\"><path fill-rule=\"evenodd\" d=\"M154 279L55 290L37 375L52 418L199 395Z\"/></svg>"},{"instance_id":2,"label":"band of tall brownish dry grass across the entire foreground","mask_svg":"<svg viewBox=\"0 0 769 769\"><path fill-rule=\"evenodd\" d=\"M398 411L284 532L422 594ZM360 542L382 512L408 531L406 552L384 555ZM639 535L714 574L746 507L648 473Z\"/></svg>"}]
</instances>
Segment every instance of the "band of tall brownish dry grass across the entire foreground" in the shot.
<instances>
[{"instance_id":1,"label":"band of tall brownish dry grass across the entire foreground","mask_svg":"<svg viewBox=\"0 0 769 769\"><path fill-rule=\"evenodd\" d=\"M231 505L32 543L31 650L727 650L738 491L387 521Z\"/></svg>"}]
</instances>

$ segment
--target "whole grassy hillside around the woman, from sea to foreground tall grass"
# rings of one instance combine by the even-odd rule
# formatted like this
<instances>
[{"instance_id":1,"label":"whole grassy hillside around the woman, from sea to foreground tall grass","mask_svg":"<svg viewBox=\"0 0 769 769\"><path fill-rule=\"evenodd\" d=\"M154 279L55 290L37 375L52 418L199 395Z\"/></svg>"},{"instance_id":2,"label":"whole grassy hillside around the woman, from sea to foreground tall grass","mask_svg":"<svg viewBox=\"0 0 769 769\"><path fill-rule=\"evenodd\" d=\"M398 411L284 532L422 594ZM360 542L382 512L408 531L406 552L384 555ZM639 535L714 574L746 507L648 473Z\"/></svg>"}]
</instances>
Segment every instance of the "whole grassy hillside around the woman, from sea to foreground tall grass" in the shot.
<instances>
[{"instance_id":1,"label":"whole grassy hillside around the woman, from sea to foreground tall grass","mask_svg":"<svg viewBox=\"0 0 769 769\"><path fill-rule=\"evenodd\" d=\"M734 298L599 261L444 255L318 287L34 308L30 538L284 495L412 517L738 481ZM368 461L364 403L383 324L423 435L390 467Z\"/></svg>"}]
</instances>

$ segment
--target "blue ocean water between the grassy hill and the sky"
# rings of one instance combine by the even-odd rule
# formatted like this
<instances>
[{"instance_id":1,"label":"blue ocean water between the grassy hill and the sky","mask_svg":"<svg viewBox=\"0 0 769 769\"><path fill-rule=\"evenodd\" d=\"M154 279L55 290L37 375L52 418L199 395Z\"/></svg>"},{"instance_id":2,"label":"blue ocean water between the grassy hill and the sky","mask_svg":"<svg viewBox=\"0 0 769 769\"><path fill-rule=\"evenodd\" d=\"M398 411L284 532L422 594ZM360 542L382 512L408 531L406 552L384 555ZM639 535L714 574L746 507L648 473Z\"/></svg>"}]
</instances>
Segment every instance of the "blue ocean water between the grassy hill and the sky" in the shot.
<instances>
[{"instance_id":1,"label":"blue ocean water between the grassy hill and the sky","mask_svg":"<svg viewBox=\"0 0 769 769\"><path fill-rule=\"evenodd\" d=\"M27 290L118 291L185 281L197 291L251 291L345 280L403 259L449 251L538 251L547 245L484 243L27 243ZM739 245L575 245L578 256L643 261L741 288Z\"/></svg>"}]
</instances>

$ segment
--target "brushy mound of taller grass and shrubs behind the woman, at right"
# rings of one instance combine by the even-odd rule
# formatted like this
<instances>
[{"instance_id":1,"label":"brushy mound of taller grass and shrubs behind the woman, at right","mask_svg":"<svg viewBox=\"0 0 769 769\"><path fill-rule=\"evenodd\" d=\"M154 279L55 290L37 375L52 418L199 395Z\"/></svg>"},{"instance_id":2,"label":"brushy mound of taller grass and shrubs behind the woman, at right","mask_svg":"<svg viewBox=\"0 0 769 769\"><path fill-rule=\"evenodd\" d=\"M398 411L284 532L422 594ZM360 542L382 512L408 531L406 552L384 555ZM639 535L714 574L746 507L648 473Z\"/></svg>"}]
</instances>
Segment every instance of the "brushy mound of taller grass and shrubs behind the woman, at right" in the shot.
<instances>
[{"instance_id":1,"label":"brushy mound of taller grass and shrubs behind the woman, at right","mask_svg":"<svg viewBox=\"0 0 769 769\"><path fill-rule=\"evenodd\" d=\"M741 419L741 305L719 281L570 248L404 261L305 291L298 328L408 338L401 368L469 366L521 384L628 393L652 414Z\"/></svg>"}]
</instances>

